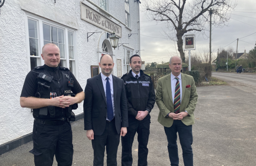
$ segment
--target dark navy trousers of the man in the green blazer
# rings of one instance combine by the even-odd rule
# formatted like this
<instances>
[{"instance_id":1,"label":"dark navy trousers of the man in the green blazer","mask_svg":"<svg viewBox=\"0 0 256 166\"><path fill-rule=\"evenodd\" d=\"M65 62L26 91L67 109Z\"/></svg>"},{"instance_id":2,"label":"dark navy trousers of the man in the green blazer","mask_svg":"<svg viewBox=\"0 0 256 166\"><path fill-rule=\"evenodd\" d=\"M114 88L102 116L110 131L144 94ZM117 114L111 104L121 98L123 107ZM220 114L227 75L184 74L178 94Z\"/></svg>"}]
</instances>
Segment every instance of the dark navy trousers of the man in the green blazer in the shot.
<instances>
[{"instance_id":1,"label":"dark navy trousers of the man in the green blazer","mask_svg":"<svg viewBox=\"0 0 256 166\"><path fill-rule=\"evenodd\" d=\"M186 126L181 120L174 120L171 127L164 127L168 141L168 152L171 166L179 166L177 132L180 138L184 166L193 166L192 125Z\"/></svg>"}]
</instances>

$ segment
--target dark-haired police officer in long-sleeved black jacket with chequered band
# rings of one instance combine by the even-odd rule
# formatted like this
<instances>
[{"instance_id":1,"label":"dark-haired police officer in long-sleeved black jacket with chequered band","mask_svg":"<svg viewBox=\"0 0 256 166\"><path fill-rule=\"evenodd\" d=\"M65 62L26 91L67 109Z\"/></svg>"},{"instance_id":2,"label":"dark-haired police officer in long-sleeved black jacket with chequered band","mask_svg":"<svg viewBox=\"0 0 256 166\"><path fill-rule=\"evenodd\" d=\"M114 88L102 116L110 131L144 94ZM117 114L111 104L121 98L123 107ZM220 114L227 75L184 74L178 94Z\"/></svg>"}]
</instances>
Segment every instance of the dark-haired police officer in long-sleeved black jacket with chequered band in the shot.
<instances>
[{"instance_id":1,"label":"dark-haired police officer in long-sleeved black jacket with chequered band","mask_svg":"<svg viewBox=\"0 0 256 166\"><path fill-rule=\"evenodd\" d=\"M141 58L130 57L129 73L122 76L125 84L128 123L127 133L122 136L122 166L132 166L132 144L138 133L138 166L147 166L150 112L155 104L155 90L151 77L141 70Z\"/></svg>"}]
</instances>

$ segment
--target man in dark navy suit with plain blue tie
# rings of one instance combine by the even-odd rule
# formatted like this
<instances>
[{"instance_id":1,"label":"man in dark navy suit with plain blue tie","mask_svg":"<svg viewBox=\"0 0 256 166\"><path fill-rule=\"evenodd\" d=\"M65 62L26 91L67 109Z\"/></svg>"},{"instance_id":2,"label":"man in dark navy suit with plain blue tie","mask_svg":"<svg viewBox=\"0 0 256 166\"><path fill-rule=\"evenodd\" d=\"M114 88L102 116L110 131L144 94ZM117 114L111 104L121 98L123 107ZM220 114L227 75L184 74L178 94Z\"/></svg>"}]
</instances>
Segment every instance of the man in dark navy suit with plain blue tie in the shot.
<instances>
[{"instance_id":1,"label":"man in dark navy suit with plain blue tie","mask_svg":"<svg viewBox=\"0 0 256 166\"><path fill-rule=\"evenodd\" d=\"M128 111L124 81L111 74L114 61L101 56L101 73L87 80L84 100L86 136L92 140L93 166L103 166L106 146L107 166L117 166L120 135L128 127ZM119 135L120 134L120 135Z\"/></svg>"}]
</instances>

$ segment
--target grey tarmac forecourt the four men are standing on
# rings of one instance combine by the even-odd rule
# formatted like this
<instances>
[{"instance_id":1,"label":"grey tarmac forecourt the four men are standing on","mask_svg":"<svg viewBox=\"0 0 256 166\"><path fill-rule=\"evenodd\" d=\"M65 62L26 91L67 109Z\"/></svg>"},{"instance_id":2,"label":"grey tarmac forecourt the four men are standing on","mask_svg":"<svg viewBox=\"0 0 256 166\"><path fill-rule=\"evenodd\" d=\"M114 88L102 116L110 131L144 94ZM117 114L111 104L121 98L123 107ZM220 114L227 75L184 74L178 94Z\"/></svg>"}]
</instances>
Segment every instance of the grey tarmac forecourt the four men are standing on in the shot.
<instances>
[{"instance_id":1,"label":"grey tarmac forecourt the four men are standing on","mask_svg":"<svg viewBox=\"0 0 256 166\"><path fill-rule=\"evenodd\" d=\"M242 85L243 86L243 85ZM255 166L256 164L256 102L248 88L236 84L198 87L195 124L193 125L193 153L195 166ZM241 85L239 85L241 88ZM148 142L148 165L170 165L167 139L163 126L158 123L159 109L151 112ZM72 123L74 156L73 166L93 165L93 149L87 139L83 120ZM133 166L138 161L137 134L133 144ZM179 140L180 166L184 166ZM32 142L0 156L0 166L33 166ZM121 139L118 148L118 166L121 165ZM56 160L54 166L57 166ZM106 165L106 159L105 163Z\"/></svg>"}]
</instances>

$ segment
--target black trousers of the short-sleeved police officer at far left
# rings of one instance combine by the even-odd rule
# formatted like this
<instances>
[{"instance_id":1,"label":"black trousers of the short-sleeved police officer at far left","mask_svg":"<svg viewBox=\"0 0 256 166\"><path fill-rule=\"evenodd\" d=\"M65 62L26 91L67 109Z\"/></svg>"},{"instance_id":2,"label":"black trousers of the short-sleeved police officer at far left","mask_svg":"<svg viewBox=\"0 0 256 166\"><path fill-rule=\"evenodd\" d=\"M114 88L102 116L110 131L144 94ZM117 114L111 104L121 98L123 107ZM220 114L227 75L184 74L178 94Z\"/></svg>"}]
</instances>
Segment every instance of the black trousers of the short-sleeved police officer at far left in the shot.
<instances>
[{"instance_id":1,"label":"black trousers of the short-sleeved police officer at far left","mask_svg":"<svg viewBox=\"0 0 256 166\"><path fill-rule=\"evenodd\" d=\"M71 166L73 144L71 125L50 126L34 121L33 145L35 166L52 166L55 155L58 166Z\"/></svg>"}]
</instances>

